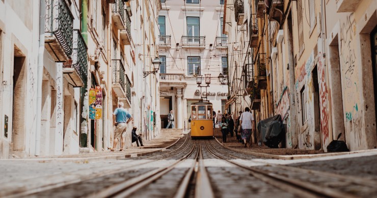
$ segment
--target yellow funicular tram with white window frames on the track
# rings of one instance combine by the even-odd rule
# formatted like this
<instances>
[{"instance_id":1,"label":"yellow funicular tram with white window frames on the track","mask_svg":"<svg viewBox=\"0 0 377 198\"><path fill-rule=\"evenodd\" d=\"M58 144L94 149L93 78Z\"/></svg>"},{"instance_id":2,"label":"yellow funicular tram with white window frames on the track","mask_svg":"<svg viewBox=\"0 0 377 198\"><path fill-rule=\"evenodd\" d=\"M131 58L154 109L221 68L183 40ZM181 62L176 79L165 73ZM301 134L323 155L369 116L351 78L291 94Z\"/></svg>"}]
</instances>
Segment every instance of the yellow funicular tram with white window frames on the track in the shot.
<instances>
[{"instance_id":1,"label":"yellow funicular tram with white window frames on the track","mask_svg":"<svg viewBox=\"0 0 377 198\"><path fill-rule=\"evenodd\" d=\"M191 137L213 137L212 103L191 104Z\"/></svg>"}]
</instances>

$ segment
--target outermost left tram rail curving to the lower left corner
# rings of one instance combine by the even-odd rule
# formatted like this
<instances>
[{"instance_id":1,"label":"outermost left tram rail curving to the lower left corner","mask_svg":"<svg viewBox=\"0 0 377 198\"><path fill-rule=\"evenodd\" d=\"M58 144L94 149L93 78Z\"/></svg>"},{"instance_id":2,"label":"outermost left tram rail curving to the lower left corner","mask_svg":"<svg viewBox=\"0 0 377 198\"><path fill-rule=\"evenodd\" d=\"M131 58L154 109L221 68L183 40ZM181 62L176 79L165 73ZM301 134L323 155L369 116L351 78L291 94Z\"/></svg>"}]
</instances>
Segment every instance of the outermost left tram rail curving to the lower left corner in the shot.
<instances>
[{"instance_id":1,"label":"outermost left tram rail curving to the lower left corner","mask_svg":"<svg viewBox=\"0 0 377 198\"><path fill-rule=\"evenodd\" d=\"M40 197L40 196L55 196L55 197L65 197L67 194L71 197L81 197L84 196L85 194L90 194L93 192L93 190L98 190L98 189L93 189L92 186L98 185L101 181L109 181L112 180L114 177L119 177L119 176L129 176L131 178L136 174L136 171L134 171L134 167L142 166L142 165L148 165L148 164L153 164L156 163L158 160L164 160L168 158L172 158L176 155L179 155L180 153L184 152L184 150L190 145L191 143L191 138L189 138L190 135L184 135L184 138L178 139L175 143L170 145L169 147L166 147L163 149L162 153L158 153L156 156L154 155L145 155L142 157L138 157L141 160L141 162L138 161L132 161L129 163L129 165L119 167L119 164L112 165L114 166L114 169L111 169L109 171L109 167L106 168L106 171L101 171L101 168L98 169L98 171L94 174L91 174L89 176L84 176L80 180L72 180L72 181L60 181L58 183L52 183L44 186L38 186L36 188L33 188L31 190L20 190L20 189L15 189L12 190L10 189L8 192L2 192L2 196L7 196L7 197L21 197L21 196L27 196L27 197ZM172 151L168 150L172 149ZM164 153L166 152L166 153ZM131 159L137 159L137 158L131 158ZM122 159L122 160L128 160L128 159ZM153 168L151 169L146 169L145 171L152 171ZM73 173L69 173L68 175L72 175ZM58 174L56 177L59 177L59 175L62 175L60 177L66 177L66 174ZM54 176L52 176L54 177ZM49 177L48 179L50 179ZM102 179L101 179L102 178ZM117 181L110 181L106 182L109 184L101 184L98 185L98 188L101 187L108 187L112 183L116 183ZM97 184L96 184L97 183ZM90 184L90 188L88 188L88 184ZM83 186L80 188L80 186ZM77 191L79 189L79 191Z\"/></svg>"}]
</instances>

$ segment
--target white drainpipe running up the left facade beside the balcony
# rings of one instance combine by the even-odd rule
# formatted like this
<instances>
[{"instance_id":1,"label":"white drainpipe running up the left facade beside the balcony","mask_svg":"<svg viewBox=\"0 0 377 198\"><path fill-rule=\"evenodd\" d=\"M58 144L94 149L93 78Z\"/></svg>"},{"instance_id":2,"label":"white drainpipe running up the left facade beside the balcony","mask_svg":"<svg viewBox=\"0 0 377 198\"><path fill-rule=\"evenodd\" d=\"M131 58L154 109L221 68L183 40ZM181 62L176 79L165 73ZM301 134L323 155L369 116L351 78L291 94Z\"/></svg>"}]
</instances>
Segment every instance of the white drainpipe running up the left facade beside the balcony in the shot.
<instances>
[{"instance_id":1,"label":"white drainpipe running up the left facade beside the balcony","mask_svg":"<svg viewBox=\"0 0 377 198\"><path fill-rule=\"evenodd\" d=\"M37 128L35 132L35 156L41 152L41 113L42 113L42 77L43 77L43 52L44 52L44 22L46 18L46 2L39 2L39 48L37 71Z\"/></svg>"}]
</instances>

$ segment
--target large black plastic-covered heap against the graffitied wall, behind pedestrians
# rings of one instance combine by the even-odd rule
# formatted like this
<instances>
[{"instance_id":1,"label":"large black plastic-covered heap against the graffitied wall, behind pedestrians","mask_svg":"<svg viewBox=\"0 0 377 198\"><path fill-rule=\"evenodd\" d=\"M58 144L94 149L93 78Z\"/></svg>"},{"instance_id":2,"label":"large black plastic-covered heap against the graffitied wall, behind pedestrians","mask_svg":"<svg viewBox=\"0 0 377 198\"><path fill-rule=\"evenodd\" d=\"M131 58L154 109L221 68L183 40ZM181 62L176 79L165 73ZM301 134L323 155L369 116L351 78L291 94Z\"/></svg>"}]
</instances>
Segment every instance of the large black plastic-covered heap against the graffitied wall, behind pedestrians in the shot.
<instances>
[{"instance_id":1,"label":"large black plastic-covered heap against the graffitied wall, behind pedestrians","mask_svg":"<svg viewBox=\"0 0 377 198\"><path fill-rule=\"evenodd\" d=\"M285 137L284 124L280 115L259 121L257 128L261 135L260 140L264 145L270 148L279 148L280 142Z\"/></svg>"}]
</instances>

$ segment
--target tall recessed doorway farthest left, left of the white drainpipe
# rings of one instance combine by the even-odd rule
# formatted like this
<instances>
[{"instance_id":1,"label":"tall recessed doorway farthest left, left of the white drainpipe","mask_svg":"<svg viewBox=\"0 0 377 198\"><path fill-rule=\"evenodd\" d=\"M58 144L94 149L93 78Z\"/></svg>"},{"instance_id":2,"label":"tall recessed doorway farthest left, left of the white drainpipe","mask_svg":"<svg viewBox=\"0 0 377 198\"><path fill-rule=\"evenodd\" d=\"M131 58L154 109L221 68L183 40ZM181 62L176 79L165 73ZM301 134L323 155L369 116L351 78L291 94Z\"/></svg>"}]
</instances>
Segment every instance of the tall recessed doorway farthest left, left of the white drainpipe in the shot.
<instances>
[{"instance_id":1,"label":"tall recessed doorway farthest left, left of the white drainpipe","mask_svg":"<svg viewBox=\"0 0 377 198\"><path fill-rule=\"evenodd\" d=\"M13 57L13 151L25 151L25 65L25 56L15 47Z\"/></svg>"}]
</instances>

